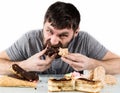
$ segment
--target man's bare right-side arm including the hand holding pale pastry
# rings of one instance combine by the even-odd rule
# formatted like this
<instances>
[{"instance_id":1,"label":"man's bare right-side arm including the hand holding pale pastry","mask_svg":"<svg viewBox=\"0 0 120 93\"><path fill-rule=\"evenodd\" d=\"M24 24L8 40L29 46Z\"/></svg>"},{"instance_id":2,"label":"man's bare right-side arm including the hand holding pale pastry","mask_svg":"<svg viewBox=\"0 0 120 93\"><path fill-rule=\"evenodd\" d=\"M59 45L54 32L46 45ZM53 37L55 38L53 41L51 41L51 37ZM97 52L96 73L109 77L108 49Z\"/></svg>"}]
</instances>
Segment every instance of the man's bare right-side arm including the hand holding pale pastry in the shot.
<instances>
[{"instance_id":1,"label":"man's bare right-side arm including the hand holding pale pastry","mask_svg":"<svg viewBox=\"0 0 120 93\"><path fill-rule=\"evenodd\" d=\"M89 58L79 53L69 53L62 60L76 71L91 70L103 66L107 74L120 74L120 57L108 51L102 60Z\"/></svg>"}]
</instances>

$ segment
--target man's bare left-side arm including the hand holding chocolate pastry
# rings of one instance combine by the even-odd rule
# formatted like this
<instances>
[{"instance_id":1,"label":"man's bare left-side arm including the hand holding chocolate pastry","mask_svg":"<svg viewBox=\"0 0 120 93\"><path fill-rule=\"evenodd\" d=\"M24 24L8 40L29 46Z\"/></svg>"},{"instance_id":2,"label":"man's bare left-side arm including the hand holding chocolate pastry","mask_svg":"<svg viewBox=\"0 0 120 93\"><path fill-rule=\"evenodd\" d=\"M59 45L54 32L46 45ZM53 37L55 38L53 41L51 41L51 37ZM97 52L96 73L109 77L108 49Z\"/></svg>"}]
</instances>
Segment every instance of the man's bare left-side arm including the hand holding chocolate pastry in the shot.
<instances>
[{"instance_id":1,"label":"man's bare left-side arm including the hand holding chocolate pastry","mask_svg":"<svg viewBox=\"0 0 120 93\"><path fill-rule=\"evenodd\" d=\"M30 58L23 60L23 61L11 61L9 56L5 51L0 53L0 74L12 74L10 71L10 67L12 64L16 63L23 69L27 71L39 71L43 72L47 70L51 63L52 60L55 58L55 55L48 57L46 56L46 59L43 60L41 59L41 56L46 52L45 50L42 50L39 53L36 53L35 55L31 56Z\"/></svg>"}]
</instances>

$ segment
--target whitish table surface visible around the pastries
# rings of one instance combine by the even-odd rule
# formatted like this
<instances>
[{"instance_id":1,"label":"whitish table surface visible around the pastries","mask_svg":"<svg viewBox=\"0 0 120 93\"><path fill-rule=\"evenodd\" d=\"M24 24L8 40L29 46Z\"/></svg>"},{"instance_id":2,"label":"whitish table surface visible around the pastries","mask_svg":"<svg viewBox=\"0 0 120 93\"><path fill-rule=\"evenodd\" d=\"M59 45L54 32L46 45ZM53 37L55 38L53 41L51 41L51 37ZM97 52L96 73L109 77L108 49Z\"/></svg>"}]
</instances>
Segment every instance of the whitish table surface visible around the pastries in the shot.
<instances>
[{"instance_id":1,"label":"whitish table surface visible around the pastries","mask_svg":"<svg viewBox=\"0 0 120 93\"><path fill-rule=\"evenodd\" d=\"M59 78L61 75L58 75ZM37 89L35 88L20 88L20 87L0 87L0 93L50 93L48 92L47 80L54 75L40 75L41 82L39 82ZM120 93L120 75L116 76L117 84L113 86L104 87L100 93ZM53 93L83 93L83 92L53 92Z\"/></svg>"}]
</instances>

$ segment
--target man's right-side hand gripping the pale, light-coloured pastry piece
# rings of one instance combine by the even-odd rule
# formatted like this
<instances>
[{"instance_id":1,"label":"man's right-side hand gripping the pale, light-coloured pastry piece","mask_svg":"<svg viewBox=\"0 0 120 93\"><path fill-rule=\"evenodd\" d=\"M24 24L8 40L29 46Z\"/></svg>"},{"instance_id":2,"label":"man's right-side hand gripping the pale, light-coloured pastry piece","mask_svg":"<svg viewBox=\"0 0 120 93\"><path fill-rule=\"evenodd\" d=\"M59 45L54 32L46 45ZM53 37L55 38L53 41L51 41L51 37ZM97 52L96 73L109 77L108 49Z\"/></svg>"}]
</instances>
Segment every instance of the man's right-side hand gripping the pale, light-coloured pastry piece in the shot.
<instances>
[{"instance_id":1,"label":"man's right-side hand gripping the pale, light-coloured pastry piece","mask_svg":"<svg viewBox=\"0 0 120 93\"><path fill-rule=\"evenodd\" d=\"M61 59L76 71L88 70L94 67L94 63L90 58L78 53L69 53L65 57L61 57Z\"/></svg>"}]
</instances>

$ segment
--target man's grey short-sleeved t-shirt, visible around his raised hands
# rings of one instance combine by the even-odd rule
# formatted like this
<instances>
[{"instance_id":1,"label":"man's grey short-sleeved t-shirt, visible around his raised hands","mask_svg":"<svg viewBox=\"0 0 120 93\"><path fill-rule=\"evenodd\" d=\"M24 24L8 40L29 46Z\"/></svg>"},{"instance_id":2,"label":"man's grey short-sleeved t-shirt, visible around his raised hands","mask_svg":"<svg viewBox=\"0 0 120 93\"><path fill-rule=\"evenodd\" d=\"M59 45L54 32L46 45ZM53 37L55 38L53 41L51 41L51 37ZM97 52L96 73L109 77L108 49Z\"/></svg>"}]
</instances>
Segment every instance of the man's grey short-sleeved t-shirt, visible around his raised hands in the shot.
<instances>
[{"instance_id":1,"label":"man's grey short-sleeved t-shirt, visible around his raised hands","mask_svg":"<svg viewBox=\"0 0 120 93\"><path fill-rule=\"evenodd\" d=\"M34 30L23 35L11 47L6 49L6 52L12 61L22 61L41 50L43 50L43 31ZM69 52L80 53L97 60L101 60L108 51L92 36L83 31L80 31L78 36L71 41L68 50ZM74 69L59 58L52 62L48 70L41 73L65 74L72 71Z\"/></svg>"}]
</instances>

